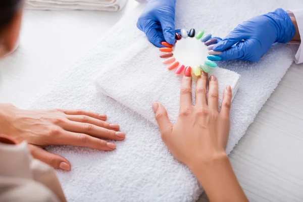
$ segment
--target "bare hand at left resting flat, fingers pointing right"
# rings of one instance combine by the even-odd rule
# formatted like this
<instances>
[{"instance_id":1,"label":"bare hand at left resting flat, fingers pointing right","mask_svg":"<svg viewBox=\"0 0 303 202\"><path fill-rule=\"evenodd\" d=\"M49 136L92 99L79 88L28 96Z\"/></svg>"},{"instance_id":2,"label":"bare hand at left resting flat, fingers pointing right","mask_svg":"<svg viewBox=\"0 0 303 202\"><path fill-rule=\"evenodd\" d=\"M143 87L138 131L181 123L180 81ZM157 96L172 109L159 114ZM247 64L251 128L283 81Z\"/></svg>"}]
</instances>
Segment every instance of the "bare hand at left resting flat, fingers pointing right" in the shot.
<instances>
[{"instance_id":1,"label":"bare hand at left resting flat, fingers pointing right","mask_svg":"<svg viewBox=\"0 0 303 202\"><path fill-rule=\"evenodd\" d=\"M19 142L26 140L35 159L63 170L70 170L68 160L42 148L67 144L114 150L116 145L103 139L123 140L125 133L106 119L106 115L82 110L21 110L0 104L0 132Z\"/></svg>"}]
</instances>

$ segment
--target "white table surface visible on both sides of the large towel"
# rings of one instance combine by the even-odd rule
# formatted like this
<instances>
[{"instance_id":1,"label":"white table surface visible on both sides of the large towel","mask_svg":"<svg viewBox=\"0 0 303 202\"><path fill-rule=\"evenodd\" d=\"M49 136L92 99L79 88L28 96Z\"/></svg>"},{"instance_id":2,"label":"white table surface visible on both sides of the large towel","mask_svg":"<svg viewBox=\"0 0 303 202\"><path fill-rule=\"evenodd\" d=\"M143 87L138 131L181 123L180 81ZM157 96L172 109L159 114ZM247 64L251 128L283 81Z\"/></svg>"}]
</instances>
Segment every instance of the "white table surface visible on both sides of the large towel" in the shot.
<instances>
[{"instance_id":1,"label":"white table surface visible on both sides of the large towel","mask_svg":"<svg viewBox=\"0 0 303 202\"><path fill-rule=\"evenodd\" d=\"M119 13L25 11L20 47L0 61L0 103L22 107L136 4ZM303 65L293 64L230 154L250 201L303 200L302 100Z\"/></svg>"}]
</instances>

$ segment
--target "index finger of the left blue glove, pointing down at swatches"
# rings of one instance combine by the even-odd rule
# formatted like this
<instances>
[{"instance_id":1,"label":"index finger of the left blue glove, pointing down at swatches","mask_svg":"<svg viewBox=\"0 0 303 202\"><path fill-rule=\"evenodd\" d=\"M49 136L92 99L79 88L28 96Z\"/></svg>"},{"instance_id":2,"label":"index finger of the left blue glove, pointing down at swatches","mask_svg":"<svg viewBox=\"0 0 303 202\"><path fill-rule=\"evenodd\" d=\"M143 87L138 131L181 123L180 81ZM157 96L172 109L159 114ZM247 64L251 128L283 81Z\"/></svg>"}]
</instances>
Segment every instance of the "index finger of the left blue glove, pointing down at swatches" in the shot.
<instances>
[{"instance_id":1,"label":"index finger of the left blue glove, pointing down at swatches","mask_svg":"<svg viewBox=\"0 0 303 202\"><path fill-rule=\"evenodd\" d=\"M159 19L163 36L169 44L175 44L175 15L167 15Z\"/></svg>"}]
</instances>

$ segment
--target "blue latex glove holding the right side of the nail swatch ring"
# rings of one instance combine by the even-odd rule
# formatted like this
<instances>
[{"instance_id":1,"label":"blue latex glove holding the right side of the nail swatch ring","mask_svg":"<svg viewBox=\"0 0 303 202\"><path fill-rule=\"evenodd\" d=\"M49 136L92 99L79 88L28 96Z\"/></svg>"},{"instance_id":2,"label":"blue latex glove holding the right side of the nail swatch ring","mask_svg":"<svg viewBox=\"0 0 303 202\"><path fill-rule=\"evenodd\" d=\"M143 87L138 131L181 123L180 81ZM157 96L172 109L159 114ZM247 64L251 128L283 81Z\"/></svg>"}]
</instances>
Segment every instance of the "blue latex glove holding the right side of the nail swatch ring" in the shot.
<instances>
[{"instance_id":1,"label":"blue latex glove holding the right side of the nail swatch ring","mask_svg":"<svg viewBox=\"0 0 303 202\"><path fill-rule=\"evenodd\" d=\"M258 61L275 42L286 43L295 27L283 9L251 18L239 24L213 48L223 52L221 60Z\"/></svg>"}]
</instances>

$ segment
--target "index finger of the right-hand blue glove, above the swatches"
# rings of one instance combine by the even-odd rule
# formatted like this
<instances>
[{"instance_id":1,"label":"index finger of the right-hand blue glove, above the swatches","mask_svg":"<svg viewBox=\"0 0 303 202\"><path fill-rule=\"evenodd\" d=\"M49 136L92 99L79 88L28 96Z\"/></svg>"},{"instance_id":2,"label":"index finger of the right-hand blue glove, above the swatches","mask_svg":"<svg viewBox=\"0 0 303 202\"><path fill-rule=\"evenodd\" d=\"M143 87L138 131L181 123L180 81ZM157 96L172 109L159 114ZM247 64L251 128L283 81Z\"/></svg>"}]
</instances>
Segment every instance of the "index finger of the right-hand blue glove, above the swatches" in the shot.
<instances>
[{"instance_id":1,"label":"index finger of the right-hand blue glove, above the swatches","mask_svg":"<svg viewBox=\"0 0 303 202\"><path fill-rule=\"evenodd\" d=\"M246 38L243 31L239 30L237 27L232 30L224 39L219 41L213 48L214 51L220 52L225 51L227 48L230 48L232 45Z\"/></svg>"}]
</instances>

